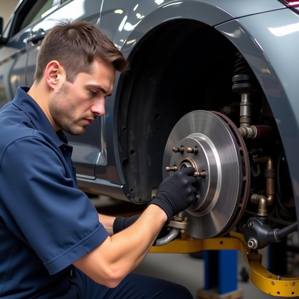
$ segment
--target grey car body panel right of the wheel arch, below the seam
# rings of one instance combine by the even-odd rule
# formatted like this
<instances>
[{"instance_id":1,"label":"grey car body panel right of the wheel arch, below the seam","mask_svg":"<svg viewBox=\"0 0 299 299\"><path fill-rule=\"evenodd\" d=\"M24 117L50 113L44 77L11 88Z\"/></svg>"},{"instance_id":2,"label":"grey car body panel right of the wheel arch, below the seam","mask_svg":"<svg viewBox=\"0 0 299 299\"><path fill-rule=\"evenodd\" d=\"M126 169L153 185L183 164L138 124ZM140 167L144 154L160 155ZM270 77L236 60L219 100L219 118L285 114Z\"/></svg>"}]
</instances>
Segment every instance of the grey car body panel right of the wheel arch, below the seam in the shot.
<instances>
[{"instance_id":1,"label":"grey car body panel right of the wheel arch, below the seam","mask_svg":"<svg viewBox=\"0 0 299 299\"><path fill-rule=\"evenodd\" d=\"M242 53L274 114L292 178L299 218L299 15L290 9L246 16L215 27ZM292 45L290 47L289 45Z\"/></svg>"}]
</instances>

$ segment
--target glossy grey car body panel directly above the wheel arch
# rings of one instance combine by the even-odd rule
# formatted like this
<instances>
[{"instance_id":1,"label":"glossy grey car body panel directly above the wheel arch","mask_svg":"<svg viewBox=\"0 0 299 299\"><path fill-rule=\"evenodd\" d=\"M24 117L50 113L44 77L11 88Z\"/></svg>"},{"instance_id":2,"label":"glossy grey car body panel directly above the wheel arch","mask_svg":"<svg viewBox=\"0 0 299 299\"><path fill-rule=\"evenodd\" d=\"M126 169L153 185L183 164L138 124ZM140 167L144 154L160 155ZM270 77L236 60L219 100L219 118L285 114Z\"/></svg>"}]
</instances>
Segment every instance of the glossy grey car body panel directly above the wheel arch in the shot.
<instances>
[{"instance_id":1,"label":"glossy grey car body panel directly above the wheel arch","mask_svg":"<svg viewBox=\"0 0 299 299\"><path fill-rule=\"evenodd\" d=\"M194 19L215 26L238 17L262 13L286 6L279 1L104 1L101 13L100 29L118 48L128 44L127 40L135 28L154 13L152 22L147 22L145 32L174 18ZM155 20L156 19L156 20ZM137 28L136 28L137 29ZM137 42L137 41L136 41ZM132 42L131 42L132 43ZM135 43L133 44L135 45Z\"/></svg>"}]
</instances>

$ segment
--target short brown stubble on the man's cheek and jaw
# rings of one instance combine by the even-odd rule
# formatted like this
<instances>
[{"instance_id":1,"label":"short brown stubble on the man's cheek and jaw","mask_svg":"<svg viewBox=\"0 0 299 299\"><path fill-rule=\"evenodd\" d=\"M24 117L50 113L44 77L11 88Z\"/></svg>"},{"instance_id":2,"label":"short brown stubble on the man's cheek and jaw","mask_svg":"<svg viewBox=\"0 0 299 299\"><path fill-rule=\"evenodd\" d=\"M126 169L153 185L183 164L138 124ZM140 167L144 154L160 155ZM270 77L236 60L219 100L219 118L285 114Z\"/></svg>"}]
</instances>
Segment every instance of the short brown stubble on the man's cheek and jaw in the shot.
<instances>
[{"instance_id":1,"label":"short brown stubble on the man's cheek and jaw","mask_svg":"<svg viewBox=\"0 0 299 299\"><path fill-rule=\"evenodd\" d=\"M51 97L49 110L54 122L71 135L82 135L85 132L85 126L76 125L75 111L76 107L68 96L68 83L64 82L60 89Z\"/></svg>"}]
</instances>

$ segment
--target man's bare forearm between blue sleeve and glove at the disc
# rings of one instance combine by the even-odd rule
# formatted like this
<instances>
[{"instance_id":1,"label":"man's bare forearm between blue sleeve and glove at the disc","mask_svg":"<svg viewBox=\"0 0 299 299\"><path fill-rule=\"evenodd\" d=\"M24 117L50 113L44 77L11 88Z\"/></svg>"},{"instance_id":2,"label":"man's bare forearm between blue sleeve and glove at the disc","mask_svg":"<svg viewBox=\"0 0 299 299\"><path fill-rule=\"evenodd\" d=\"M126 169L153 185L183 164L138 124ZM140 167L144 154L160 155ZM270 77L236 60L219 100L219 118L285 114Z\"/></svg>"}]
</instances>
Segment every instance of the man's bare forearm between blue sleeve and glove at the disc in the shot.
<instances>
[{"instance_id":1,"label":"man's bare forearm between blue sleeve and glove at the disc","mask_svg":"<svg viewBox=\"0 0 299 299\"><path fill-rule=\"evenodd\" d=\"M107 237L74 265L97 283L114 288L144 259L166 220L160 207L150 205L134 224Z\"/></svg>"}]
</instances>

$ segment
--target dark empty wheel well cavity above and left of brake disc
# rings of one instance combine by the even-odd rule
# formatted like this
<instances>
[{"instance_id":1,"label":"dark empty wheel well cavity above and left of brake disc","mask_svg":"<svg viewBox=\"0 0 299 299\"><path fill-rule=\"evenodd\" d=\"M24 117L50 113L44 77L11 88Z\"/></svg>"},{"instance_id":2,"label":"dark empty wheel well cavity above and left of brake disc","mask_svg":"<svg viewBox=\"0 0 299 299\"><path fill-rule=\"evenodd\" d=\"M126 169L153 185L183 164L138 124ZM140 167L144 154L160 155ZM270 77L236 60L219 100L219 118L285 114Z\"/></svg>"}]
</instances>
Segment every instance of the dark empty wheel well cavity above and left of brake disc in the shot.
<instances>
[{"instance_id":1,"label":"dark empty wheel well cavity above and left of brake disc","mask_svg":"<svg viewBox=\"0 0 299 299\"><path fill-rule=\"evenodd\" d=\"M142 41L118 112L120 158L135 202L148 202L161 183L165 144L182 116L239 101L231 90L236 53L221 33L194 20L169 22Z\"/></svg>"}]
</instances>

